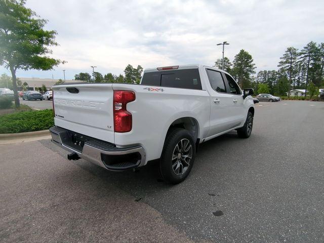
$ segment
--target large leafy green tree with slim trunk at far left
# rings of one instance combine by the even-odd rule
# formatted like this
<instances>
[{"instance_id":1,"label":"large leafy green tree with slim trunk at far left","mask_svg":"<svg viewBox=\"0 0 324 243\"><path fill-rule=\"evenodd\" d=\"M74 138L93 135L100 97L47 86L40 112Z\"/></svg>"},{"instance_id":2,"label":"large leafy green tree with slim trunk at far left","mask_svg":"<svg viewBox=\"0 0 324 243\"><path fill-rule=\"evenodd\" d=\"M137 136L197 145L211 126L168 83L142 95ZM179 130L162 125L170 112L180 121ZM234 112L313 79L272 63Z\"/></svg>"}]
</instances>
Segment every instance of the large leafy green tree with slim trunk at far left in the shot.
<instances>
[{"instance_id":1,"label":"large leafy green tree with slim trunk at far left","mask_svg":"<svg viewBox=\"0 0 324 243\"><path fill-rule=\"evenodd\" d=\"M57 32L45 30L47 20L24 5L24 0L0 0L0 64L11 71L16 107L18 69L50 70L61 63L47 56L52 53L49 47L58 45Z\"/></svg>"}]
</instances>

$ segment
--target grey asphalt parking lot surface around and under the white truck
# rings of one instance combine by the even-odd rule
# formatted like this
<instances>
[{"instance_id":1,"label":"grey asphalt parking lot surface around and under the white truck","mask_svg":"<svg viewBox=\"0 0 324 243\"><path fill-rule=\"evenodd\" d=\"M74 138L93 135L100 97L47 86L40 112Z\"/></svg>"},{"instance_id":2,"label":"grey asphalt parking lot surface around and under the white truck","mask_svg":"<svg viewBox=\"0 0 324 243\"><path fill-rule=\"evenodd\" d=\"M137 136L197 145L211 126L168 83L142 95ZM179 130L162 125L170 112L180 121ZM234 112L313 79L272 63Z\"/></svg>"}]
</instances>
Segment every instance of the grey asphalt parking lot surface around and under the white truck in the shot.
<instances>
[{"instance_id":1,"label":"grey asphalt parking lot surface around and under the white truck","mask_svg":"<svg viewBox=\"0 0 324 243\"><path fill-rule=\"evenodd\" d=\"M280 101L256 106L249 139L201 144L175 186L49 140L1 145L0 241L323 242L323 144L324 102Z\"/></svg>"}]
</instances>

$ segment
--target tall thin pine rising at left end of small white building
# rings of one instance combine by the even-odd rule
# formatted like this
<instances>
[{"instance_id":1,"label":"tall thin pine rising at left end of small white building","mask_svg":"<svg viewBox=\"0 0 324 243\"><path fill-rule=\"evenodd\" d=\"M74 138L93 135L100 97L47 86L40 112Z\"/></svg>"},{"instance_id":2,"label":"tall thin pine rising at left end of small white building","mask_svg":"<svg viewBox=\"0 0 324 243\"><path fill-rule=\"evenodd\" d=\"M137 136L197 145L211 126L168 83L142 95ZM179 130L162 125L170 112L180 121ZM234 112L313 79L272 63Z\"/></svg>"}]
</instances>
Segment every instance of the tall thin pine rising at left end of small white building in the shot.
<instances>
[{"instance_id":1,"label":"tall thin pine rising at left end of small white building","mask_svg":"<svg viewBox=\"0 0 324 243\"><path fill-rule=\"evenodd\" d=\"M281 67L287 73L289 78L289 88L288 92L290 91L291 85L293 80L295 80L297 72L298 72L298 59L300 57L300 53L298 49L294 47L287 48L286 52L282 57L280 57L280 61L278 67ZM290 92L288 93L288 97L290 96Z\"/></svg>"}]
</instances>

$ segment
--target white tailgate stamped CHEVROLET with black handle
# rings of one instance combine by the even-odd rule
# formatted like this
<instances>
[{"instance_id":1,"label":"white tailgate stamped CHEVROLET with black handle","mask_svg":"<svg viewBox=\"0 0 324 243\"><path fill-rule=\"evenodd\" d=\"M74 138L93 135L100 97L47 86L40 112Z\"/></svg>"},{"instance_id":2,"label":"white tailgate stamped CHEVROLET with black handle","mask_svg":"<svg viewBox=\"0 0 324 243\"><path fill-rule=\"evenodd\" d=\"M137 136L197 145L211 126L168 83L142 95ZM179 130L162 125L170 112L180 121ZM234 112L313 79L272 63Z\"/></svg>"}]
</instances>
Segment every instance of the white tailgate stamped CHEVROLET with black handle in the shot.
<instances>
[{"instance_id":1,"label":"white tailgate stamped CHEVROLET with black handle","mask_svg":"<svg viewBox=\"0 0 324 243\"><path fill-rule=\"evenodd\" d=\"M112 84L53 87L55 125L114 143Z\"/></svg>"}]
</instances>

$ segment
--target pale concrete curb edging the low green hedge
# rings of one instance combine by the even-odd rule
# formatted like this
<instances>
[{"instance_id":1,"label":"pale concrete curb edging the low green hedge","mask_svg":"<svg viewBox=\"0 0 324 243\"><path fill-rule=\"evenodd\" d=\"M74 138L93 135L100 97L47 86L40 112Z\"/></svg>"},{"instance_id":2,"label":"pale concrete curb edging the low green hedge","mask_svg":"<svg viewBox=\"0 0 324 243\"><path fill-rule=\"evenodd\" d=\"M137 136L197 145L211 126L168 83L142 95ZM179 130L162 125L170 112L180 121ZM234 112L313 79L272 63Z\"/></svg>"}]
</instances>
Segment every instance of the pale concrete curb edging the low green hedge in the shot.
<instances>
[{"instance_id":1,"label":"pale concrete curb edging the low green hedge","mask_svg":"<svg viewBox=\"0 0 324 243\"><path fill-rule=\"evenodd\" d=\"M0 134L0 145L31 142L51 138L50 130Z\"/></svg>"}]
</instances>

